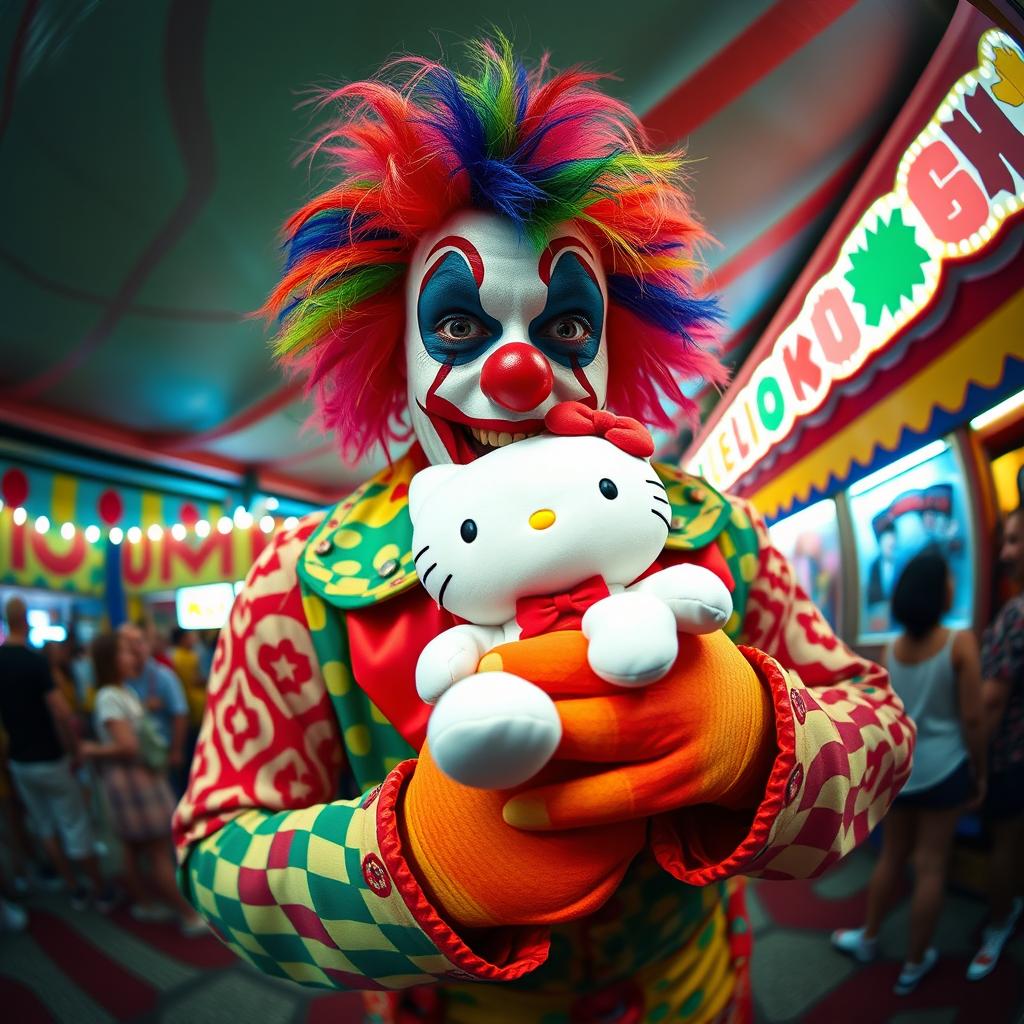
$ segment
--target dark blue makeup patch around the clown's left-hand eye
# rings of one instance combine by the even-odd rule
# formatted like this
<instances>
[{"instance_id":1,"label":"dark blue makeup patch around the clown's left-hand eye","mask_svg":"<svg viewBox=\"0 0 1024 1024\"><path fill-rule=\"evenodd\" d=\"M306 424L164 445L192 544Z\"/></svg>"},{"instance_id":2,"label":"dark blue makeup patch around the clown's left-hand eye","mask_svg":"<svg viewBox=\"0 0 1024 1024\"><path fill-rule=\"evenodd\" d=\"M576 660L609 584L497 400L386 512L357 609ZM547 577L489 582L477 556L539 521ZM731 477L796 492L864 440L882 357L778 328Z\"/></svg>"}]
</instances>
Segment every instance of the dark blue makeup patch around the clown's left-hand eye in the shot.
<instances>
[{"instance_id":1,"label":"dark blue makeup patch around the clown's left-hand eye","mask_svg":"<svg viewBox=\"0 0 1024 1024\"><path fill-rule=\"evenodd\" d=\"M502 326L480 305L473 273L458 253L442 257L416 307L423 346L438 362L462 366L502 336Z\"/></svg>"}]
</instances>

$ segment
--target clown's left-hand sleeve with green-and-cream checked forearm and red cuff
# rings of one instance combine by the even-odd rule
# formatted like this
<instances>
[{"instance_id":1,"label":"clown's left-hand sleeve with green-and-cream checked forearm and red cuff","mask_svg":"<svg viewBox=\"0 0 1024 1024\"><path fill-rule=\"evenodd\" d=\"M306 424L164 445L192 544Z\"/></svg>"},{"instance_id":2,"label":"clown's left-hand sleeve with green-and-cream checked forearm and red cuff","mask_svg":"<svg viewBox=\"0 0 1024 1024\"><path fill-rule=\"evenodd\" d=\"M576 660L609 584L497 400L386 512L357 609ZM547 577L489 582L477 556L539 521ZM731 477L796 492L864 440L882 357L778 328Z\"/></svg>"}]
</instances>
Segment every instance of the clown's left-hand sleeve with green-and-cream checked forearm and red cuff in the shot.
<instances>
[{"instance_id":1,"label":"clown's left-hand sleeve with green-and-cream checked forearm and red cuff","mask_svg":"<svg viewBox=\"0 0 1024 1024\"><path fill-rule=\"evenodd\" d=\"M379 792L337 799L344 748L295 572L314 526L261 553L221 633L174 818L182 890L240 956L293 981L396 989L517 977L546 949L525 948L525 936L493 961L472 952L406 863L396 803L415 762ZM344 667L332 668L343 685Z\"/></svg>"}]
</instances>

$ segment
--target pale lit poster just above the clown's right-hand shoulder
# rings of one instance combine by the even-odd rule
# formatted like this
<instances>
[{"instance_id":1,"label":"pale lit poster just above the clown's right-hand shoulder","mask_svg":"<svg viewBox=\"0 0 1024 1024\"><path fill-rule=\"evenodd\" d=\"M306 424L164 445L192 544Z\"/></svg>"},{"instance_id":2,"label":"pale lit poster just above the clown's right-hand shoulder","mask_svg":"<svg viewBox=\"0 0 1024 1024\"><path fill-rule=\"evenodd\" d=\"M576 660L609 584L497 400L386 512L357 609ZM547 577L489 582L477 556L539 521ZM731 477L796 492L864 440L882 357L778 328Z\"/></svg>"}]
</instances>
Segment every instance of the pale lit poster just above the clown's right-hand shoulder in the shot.
<instances>
[{"instance_id":1,"label":"pale lit poster just above the clown's right-hand shoulder","mask_svg":"<svg viewBox=\"0 0 1024 1024\"><path fill-rule=\"evenodd\" d=\"M840 548L836 503L817 502L773 523L772 544L790 560L797 583L839 632Z\"/></svg>"}]
</instances>

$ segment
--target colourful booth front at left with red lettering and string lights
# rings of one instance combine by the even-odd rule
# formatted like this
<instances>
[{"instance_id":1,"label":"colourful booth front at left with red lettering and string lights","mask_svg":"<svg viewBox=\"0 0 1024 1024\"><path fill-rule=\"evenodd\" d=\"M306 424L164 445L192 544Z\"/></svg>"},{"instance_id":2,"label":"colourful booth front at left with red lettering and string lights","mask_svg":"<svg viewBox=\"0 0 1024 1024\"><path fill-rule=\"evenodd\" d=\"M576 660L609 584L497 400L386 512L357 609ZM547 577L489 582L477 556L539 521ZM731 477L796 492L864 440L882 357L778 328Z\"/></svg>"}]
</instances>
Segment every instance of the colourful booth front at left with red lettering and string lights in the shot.
<instances>
[{"instance_id":1,"label":"colourful booth front at left with red lettering and string lights","mask_svg":"<svg viewBox=\"0 0 1024 1024\"><path fill-rule=\"evenodd\" d=\"M0 591L28 592L49 620L39 639L62 639L74 623L87 642L102 623L142 614L219 628L273 531L309 510L179 483L157 490L0 456Z\"/></svg>"}]
</instances>

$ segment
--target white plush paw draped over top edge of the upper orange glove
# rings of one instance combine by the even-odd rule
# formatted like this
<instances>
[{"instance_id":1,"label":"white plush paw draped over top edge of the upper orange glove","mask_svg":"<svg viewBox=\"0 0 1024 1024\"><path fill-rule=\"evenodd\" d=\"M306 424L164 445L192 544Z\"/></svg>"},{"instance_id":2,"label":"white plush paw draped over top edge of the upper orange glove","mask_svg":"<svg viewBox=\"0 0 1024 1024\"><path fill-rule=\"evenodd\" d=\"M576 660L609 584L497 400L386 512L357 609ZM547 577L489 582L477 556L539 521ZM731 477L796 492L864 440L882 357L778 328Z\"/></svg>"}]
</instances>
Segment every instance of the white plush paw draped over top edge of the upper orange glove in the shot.
<instances>
[{"instance_id":1,"label":"white plush paw draped over top edge of the upper orange glove","mask_svg":"<svg viewBox=\"0 0 1024 1024\"><path fill-rule=\"evenodd\" d=\"M651 594L612 594L583 616L587 660L618 686L646 686L660 679L679 653L676 620Z\"/></svg>"}]
</instances>

